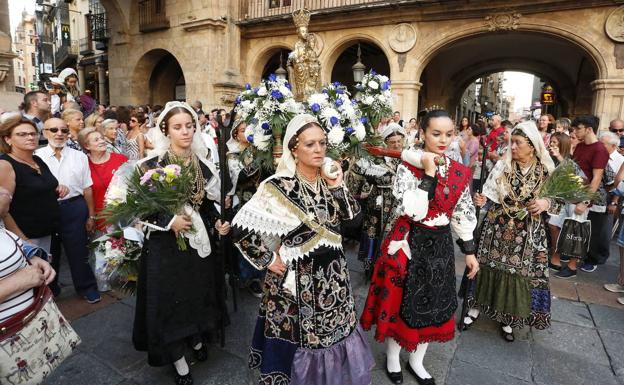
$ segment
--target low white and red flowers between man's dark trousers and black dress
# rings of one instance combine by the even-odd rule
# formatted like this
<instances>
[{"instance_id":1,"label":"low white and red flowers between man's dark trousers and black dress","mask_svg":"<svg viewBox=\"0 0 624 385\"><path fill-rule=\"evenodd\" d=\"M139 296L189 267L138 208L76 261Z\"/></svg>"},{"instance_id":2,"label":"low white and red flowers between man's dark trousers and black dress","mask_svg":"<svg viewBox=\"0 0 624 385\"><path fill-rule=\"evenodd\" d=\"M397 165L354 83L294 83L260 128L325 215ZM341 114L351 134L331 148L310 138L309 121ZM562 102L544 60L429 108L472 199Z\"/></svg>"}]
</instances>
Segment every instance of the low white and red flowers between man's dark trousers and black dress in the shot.
<instances>
[{"instance_id":1,"label":"low white and red flowers between man's dark trousers and black dress","mask_svg":"<svg viewBox=\"0 0 624 385\"><path fill-rule=\"evenodd\" d=\"M133 227L101 236L94 242L95 276L99 284L117 282L134 294L139 274L143 234ZM99 285L98 284L98 285Z\"/></svg>"}]
</instances>

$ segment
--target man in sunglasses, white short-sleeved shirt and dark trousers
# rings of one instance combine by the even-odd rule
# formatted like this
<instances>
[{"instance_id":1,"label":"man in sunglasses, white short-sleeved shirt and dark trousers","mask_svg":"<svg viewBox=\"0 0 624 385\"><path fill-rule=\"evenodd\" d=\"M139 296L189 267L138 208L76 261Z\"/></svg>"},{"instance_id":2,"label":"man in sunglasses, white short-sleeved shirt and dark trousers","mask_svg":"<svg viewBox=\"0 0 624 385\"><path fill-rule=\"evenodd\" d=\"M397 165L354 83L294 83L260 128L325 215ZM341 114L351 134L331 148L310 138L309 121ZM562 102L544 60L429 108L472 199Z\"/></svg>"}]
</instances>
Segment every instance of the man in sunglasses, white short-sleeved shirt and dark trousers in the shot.
<instances>
[{"instance_id":1,"label":"man in sunglasses, white short-sleeved shirt and dark trousers","mask_svg":"<svg viewBox=\"0 0 624 385\"><path fill-rule=\"evenodd\" d=\"M95 227L95 206L91 185L91 171L87 156L65 146L69 129L62 119L51 118L45 122L44 135L49 144L35 151L59 184L67 186L69 193L59 200L61 221L57 236L52 239L52 266L57 274L60 267L60 246L63 245L69 261L74 288L89 303L100 301L97 283L89 265L88 234ZM55 286L56 285L56 286ZM58 282L52 290L58 293Z\"/></svg>"}]
</instances>

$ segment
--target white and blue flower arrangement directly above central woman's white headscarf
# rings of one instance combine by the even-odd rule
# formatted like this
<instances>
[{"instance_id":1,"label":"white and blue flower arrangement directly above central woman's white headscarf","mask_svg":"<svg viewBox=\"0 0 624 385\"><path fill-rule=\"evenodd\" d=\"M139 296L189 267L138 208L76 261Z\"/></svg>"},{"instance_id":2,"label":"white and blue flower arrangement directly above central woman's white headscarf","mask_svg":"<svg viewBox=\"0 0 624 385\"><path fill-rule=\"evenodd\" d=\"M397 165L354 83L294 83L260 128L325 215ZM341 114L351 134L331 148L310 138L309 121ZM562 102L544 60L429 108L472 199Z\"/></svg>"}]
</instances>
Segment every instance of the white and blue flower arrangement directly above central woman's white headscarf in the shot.
<instances>
[{"instance_id":1,"label":"white and blue flower arrangement directly above central woman's white headscarf","mask_svg":"<svg viewBox=\"0 0 624 385\"><path fill-rule=\"evenodd\" d=\"M323 87L322 92L310 95L307 109L327 132L328 156L339 159L357 152L366 138L366 127L357 102L350 99L347 87L338 82Z\"/></svg>"}]
</instances>

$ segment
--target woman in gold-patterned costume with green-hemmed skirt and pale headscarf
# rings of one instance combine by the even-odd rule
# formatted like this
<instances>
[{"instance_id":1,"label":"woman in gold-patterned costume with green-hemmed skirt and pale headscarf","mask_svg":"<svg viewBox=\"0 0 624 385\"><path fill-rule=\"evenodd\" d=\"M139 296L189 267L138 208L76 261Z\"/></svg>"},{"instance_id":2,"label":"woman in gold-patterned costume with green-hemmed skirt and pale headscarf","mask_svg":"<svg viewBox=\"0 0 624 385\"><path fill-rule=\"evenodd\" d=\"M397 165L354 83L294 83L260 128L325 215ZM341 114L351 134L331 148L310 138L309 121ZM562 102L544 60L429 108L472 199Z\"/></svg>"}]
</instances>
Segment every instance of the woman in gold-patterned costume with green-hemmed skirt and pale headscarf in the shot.
<instances>
[{"instance_id":1,"label":"woman in gold-patterned costume with green-hemmed skirt and pale headscarf","mask_svg":"<svg viewBox=\"0 0 624 385\"><path fill-rule=\"evenodd\" d=\"M510 151L496 163L475 203L492 202L481 229L477 257L481 269L468 291L469 328L479 312L501 324L514 341L513 328L550 325L548 245L542 213L557 214L560 204L538 194L553 161L533 122L518 124Z\"/></svg>"}]
</instances>

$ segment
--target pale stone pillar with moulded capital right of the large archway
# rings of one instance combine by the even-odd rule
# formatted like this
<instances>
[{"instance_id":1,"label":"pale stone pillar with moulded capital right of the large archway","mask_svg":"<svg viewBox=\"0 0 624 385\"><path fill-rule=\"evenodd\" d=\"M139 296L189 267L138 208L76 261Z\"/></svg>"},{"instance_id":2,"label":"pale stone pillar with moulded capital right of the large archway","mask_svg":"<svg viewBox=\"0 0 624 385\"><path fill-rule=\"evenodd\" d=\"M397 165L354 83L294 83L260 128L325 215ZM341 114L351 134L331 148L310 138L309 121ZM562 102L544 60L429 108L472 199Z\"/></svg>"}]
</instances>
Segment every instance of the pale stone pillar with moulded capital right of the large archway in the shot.
<instances>
[{"instance_id":1,"label":"pale stone pillar with moulded capital right of the large archway","mask_svg":"<svg viewBox=\"0 0 624 385\"><path fill-rule=\"evenodd\" d=\"M596 79L593 114L600 118L600 129L607 129L613 119L624 118L624 79Z\"/></svg>"}]
</instances>

